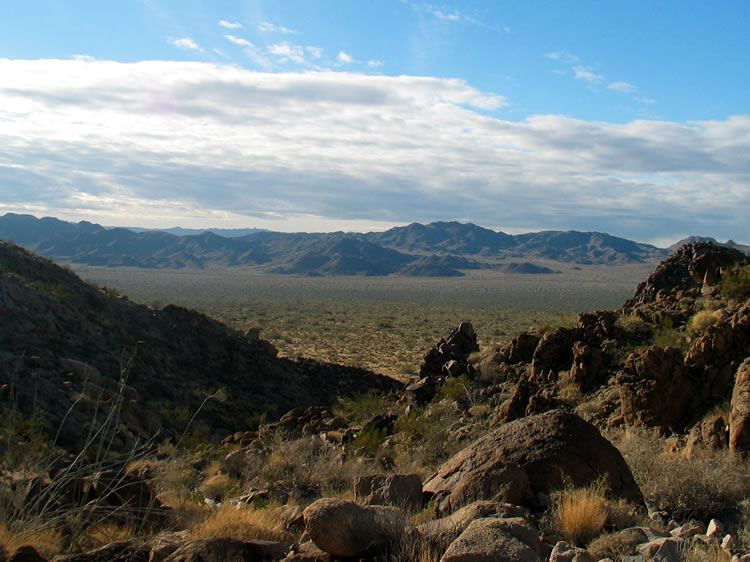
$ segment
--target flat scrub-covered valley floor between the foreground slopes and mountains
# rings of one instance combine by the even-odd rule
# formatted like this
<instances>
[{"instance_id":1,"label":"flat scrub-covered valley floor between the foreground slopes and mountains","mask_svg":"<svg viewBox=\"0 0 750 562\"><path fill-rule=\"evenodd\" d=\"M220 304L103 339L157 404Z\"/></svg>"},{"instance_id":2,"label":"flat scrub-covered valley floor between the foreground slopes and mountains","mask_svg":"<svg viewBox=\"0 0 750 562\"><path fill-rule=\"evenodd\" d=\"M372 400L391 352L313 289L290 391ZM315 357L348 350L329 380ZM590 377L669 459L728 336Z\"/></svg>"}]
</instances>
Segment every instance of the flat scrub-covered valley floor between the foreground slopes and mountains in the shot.
<instances>
[{"instance_id":1,"label":"flat scrub-covered valley floor between the foreground slopes and mountains","mask_svg":"<svg viewBox=\"0 0 750 562\"><path fill-rule=\"evenodd\" d=\"M552 275L475 271L462 278L306 278L242 268L74 269L145 304L177 304L239 330L259 328L261 337L288 357L408 379L425 350L459 321L473 323L482 347L507 343L534 327L570 325L579 312L621 306L652 267L578 266Z\"/></svg>"}]
</instances>

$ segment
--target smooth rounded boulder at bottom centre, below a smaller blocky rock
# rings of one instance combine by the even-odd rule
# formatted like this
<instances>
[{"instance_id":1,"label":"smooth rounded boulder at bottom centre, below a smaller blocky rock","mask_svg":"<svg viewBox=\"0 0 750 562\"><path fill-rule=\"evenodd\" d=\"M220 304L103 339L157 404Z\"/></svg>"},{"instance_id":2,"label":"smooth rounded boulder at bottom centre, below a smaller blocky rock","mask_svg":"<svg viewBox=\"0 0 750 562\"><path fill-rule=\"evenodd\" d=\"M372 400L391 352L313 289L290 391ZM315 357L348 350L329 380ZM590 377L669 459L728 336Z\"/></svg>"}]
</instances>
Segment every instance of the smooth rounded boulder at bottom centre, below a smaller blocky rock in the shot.
<instances>
[{"instance_id":1,"label":"smooth rounded boulder at bottom centre, below a smaller blocky rock","mask_svg":"<svg viewBox=\"0 0 750 562\"><path fill-rule=\"evenodd\" d=\"M305 531L322 551L343 558L365 556L387 547L406 532L406 516L395 507L362 507L322 498L303 512Z\"/></svg>"}]
</instances>

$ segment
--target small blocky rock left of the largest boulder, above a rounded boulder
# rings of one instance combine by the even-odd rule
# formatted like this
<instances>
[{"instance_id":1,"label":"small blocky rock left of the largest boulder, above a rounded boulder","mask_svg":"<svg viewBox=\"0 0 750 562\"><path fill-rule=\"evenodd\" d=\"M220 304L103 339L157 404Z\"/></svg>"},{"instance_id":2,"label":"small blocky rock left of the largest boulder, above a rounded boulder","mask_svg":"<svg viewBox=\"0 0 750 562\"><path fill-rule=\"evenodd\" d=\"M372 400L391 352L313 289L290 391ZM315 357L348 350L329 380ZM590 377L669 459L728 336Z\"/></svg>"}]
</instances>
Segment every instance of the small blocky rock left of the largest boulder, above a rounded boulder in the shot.
<instances>
[{"instance_id":1,"label":"small blocky rock left of the largest boulder, above a rounded boulder","mask_svg":"<svg viewBox=\"0 0 750 562\"><path fill-rule=\"evenodd\" d=\"M422 508L422 479L419 474L358 476L354 499L366 505L391 505L408 511Z\"/></svg>"}]
</instances>

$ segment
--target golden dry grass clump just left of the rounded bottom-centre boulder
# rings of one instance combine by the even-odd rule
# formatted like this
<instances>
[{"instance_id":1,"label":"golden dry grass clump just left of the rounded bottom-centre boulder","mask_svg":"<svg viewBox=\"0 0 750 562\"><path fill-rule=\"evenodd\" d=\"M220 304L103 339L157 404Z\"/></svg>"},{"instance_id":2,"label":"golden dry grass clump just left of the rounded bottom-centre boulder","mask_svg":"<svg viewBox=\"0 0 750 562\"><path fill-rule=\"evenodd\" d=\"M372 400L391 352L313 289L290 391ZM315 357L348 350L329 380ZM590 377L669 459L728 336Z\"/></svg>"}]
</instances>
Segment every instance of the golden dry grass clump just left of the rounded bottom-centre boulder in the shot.
<instances>
[{"instance_id":1,"label":"golden dry grass clump just left of the rounded bottom-centre boulder","mask_svg":"<svg viewBox=\"0 0 750 562\"><path fill-rule=\"evenodd\" d=\"M284 524L273 509L224 504L203 521L190 528L196 539L233 537L237 539L290 540Z\"/></svg>"}]
</instances>

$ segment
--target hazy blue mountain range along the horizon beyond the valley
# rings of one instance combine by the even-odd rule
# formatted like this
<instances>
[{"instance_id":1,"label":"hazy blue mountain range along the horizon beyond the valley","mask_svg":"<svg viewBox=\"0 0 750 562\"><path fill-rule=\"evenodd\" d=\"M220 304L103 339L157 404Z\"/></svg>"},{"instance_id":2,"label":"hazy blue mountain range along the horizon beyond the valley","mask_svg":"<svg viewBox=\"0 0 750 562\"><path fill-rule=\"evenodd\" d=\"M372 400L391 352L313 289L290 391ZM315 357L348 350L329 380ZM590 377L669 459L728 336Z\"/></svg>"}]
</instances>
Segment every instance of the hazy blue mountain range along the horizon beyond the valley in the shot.
<instances>
[{"instance_id":1,"label":"hazy blue mountain range along the horizon beyond the valley","mask_svg":"<svg viewBox=\"0 0 750 562\"><path fill-rule=\"evenodd\" d=\"M479 268L554 273L529 260L612 265L643 263L668 254L600 232L511 236L459 222L414 223L366 234L254 230L244 236L220 236L210 231L177 235L137 230L12 213L0 217L0 239L57 260L96 266L246 266L282 275L455 277Z\"/></svg>"}]
</instances>

